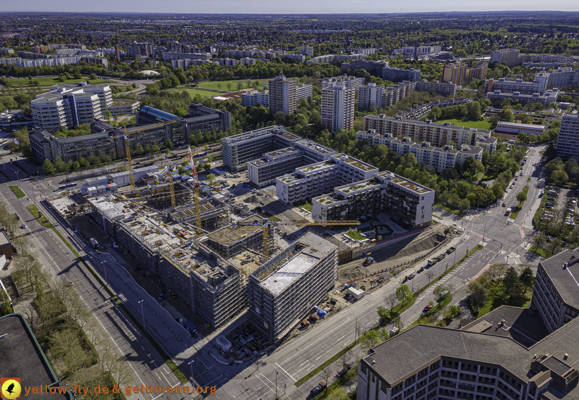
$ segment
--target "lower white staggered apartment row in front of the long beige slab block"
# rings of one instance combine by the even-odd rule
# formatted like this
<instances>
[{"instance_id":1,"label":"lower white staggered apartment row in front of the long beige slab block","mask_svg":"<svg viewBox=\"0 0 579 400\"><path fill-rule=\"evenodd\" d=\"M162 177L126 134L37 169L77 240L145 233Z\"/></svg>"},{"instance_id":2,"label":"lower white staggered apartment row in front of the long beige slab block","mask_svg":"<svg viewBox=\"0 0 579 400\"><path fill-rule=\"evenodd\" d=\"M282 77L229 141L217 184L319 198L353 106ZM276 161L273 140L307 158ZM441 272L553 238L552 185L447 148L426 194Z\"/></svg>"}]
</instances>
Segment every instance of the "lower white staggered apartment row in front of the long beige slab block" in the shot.
<instances>
[{"instance_id":1,"label":"lower white staggered apartment row in front of the long beige slab block","mask_svg":"<svg viewBox=\"0 0 579 400\"><path fill-rule=\"evenodd\" d=\"M378 135L376 131L360 131L356 134L356 139L368 139L372 145L386 145L397 155L414 154L416 161L420 164L436 169L438 172L446 168L455 168L458 163L463 166L467 158L474 158L482 162L482 147L464 145L455 150L453 146L434 147L430 142L422 142L417 145L406 136L397 139L393 134Z\"/></svg>"}]
</instances>

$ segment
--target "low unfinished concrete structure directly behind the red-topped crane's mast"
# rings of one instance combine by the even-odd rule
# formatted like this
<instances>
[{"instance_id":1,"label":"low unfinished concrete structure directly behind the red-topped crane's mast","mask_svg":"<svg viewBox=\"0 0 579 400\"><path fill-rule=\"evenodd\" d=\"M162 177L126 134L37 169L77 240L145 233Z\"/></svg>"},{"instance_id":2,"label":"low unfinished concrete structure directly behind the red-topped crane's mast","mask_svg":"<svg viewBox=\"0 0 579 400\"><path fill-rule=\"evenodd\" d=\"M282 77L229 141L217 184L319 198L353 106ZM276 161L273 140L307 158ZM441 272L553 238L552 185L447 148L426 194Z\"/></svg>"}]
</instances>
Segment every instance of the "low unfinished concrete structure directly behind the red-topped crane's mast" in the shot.
<instances>
[{"instance_id":1,"label":"low unfinished concrete structure directly behind the red-topped crane's mast","mask_svg":"<svg viewBox=\"0 0 579 400\"><path fill-rule=\"evenodd\" d=\"M205 231L213 231L231 223L229 206L215 197L201 199L199 208L201 228ZM170 209L169 217L174 222L186 222L191 225L196 225L197 223L195 206L190 203Z\"/></svg>"}]
</instances>

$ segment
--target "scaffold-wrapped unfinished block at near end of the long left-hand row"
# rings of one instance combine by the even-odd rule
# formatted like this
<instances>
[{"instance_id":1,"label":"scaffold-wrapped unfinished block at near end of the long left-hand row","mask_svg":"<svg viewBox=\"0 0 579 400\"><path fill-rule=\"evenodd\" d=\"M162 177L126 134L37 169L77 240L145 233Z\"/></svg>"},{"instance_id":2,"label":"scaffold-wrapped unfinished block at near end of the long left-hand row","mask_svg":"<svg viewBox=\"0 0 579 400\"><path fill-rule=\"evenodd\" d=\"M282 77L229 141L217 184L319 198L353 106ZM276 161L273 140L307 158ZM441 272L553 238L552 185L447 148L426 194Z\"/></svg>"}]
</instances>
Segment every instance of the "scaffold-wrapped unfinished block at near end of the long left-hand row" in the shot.
<instances>
[{"instance_id":1,"label":"scaffold-wrapped unfinished block at near end of the long left-hand row","mask_svg":"<svg viewBox=\"0 0 579 400\"><path fill-rule=\"evenodd\" d=\"M188 232L192 235L194 230ZM163 282L211 327L219 327L247 306L243 273L197 240L166 243L159 259Z\"/></svg>"}]
</instances>

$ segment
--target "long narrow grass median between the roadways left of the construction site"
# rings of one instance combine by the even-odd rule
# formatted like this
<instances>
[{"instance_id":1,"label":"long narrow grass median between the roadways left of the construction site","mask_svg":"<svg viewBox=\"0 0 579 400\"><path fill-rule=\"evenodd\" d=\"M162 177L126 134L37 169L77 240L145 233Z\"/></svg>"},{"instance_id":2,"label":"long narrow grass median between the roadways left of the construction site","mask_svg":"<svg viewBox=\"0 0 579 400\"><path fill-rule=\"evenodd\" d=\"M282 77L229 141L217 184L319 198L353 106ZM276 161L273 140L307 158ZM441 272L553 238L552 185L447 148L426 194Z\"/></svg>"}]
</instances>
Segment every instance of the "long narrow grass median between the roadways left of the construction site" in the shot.
<instances>
[{"instance_id":1,"label":"long narrow grass median between the roadways left of the construction site","mask_svg":"<svg viewBox=\"0 0 579 400\"><path fill-rule=\"evenodd\" d=\"M87 264L87 262L80 257L80 255L78 254L78 251L76 251L74 249L74 247L71 246L70 243L68 243L68 240L64 238L64 236L58 231L58 229L56 227L54 227L54 225L46 219L45 216L39 217L38 214L38 208L33 204L27 207L28 211L30 211L30 213L32 214L32 216L34 216L36 218L36 220L43 226L46 228L50 228L52 229L54 232L56 232L56 234L58 235L58 237L60 239L63 240L64 244L68 246L68 248L72 251L72 253L74 253L74 255L76 256L76 258L78 258L80 260L80 262L82 262L82 264L84 264L86 266L86 269L94 276L94 278L96 280L98 280L98 283L101 284L101 286L104 288L104 290L106 290L108 292L108 294L112 297L113 301L115 301L119 307L127 314L127 316L129 316L129 318L131 318L131 321L133 321L133 323L135 324L135 326L141 331L141 333L145 336L145 338L147 340L149 340L149 343L151 343L151 345L153 347L155 347L155 350L157 350L157 353L159 353L159 355L161 357L163 357L163 360L166 362L166 364L168 365L168 367L171 369L171 371L173 371L173 373L175 374L175 376L177 376L177 378L179 379L179 381L181 381L181 383L186 383L188 382L187 377L185 376L185 374L181 371L181 369L179 369L179 367L177 366L177 364L175 364L175 362L171 359L171 357L169 357L167 355L167 353L165 353L165 351L157 344L157 342L155 341L155 339L153 339L153 337L151 335L149 335L148 332L145 331L145 329L142 327L142 325L139 323L139 321L137 320L137 318L135 318L133 316L133 314L131 314L131 312L129 311L129 309L127 309L127 307L123 304L122 301L120 301L120 299L118 297L116 297L116 295L112 292L112 290L102 281L100 275L98 275L93 268L91 268L89 266L89 264Z\"/></svg>"}]
</instances>

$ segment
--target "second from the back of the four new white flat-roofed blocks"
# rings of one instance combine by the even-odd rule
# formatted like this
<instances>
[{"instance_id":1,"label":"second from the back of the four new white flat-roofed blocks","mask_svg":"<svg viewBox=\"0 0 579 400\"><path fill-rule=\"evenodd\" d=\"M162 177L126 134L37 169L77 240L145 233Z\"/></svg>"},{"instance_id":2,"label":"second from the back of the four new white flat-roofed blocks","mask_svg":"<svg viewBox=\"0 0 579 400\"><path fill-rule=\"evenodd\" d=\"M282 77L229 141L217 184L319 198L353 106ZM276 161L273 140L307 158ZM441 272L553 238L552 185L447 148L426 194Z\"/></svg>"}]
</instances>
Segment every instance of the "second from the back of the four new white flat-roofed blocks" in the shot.
<instances>
[{"instance_id":1,"label":"second from the back of the four new white flat-roofed blocks","mask_svg":"<svg viewBox=\"0 0 579 400\"><path fill-rule=\"evenodd\" d=\"M259 187L276 183L278 176L293 172L294 169L314 162L325 161L336 154L328 147L312 140L299 140L293 146L265 153L259 160L247 163L247 176Z\"/></svg>"}]
</instances>

